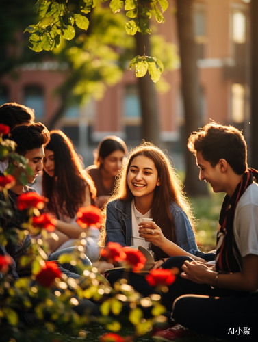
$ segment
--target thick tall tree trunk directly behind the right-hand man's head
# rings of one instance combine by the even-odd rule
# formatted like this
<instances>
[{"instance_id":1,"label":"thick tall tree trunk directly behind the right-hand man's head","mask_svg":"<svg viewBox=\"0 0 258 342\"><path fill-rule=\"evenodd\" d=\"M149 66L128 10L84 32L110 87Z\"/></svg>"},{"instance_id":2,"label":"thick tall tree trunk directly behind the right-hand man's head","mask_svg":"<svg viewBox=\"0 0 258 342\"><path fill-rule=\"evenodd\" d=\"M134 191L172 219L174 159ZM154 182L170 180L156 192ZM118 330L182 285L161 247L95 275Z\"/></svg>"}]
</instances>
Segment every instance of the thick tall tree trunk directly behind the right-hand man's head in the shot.
<instances>
[{"instance_id":1,"label":"thick tall tree trunk directly behind the right-hand man's head","mask_svg":"<svg viewBox=\"0 0 258 342\"><path fill-rule=\"evenodd\" d=\"M190 134L202 126L200 85L198 83L196 44L194 42L193 3L194 0L177 0L177 25L185 112L183 144L185 147L186 176L184 190L188 196L200 196L208 195L207 185L205 182L199 181L195 158L186 147Z\"/></svg>"}]
</instances>

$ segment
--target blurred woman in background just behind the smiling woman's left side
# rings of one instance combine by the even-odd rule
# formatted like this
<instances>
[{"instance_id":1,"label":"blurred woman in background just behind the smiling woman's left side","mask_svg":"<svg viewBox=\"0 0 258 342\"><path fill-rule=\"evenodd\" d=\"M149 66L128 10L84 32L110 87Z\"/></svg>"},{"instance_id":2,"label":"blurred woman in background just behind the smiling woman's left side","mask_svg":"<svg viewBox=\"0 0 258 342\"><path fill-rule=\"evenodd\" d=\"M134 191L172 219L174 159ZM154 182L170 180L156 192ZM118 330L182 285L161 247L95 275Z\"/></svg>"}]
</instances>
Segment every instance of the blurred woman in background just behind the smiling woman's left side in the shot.
<instances>
[{"instance_id":1,"label":"blurred woman in background just behind the smiling woman's left side","mask_svg":"<svg viewBox=\"0 0 258 342\"><path fill-rule=\"evenodd\" d=\"M116 176L127 153L125 142L115 135L104 137L94 151L94 165L88 166L86 171L95 183L96 205L99 208L103 207L112 194Z\"/></svg>"}]
</instances>

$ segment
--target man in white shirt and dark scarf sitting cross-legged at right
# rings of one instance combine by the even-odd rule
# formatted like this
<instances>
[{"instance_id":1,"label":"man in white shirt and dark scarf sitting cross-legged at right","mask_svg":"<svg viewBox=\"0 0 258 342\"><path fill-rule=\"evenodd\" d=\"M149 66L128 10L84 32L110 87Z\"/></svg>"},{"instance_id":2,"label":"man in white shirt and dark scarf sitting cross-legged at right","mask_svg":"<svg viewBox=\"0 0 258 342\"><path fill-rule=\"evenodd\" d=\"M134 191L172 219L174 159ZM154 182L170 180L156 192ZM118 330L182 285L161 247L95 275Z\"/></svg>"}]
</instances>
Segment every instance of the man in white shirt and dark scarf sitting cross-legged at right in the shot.
<instances>
[{"instance_id":1,"label":"man in white shirt and dark scarf sitting cross-legged at right","mask_svg":"<svg viewBox=\"0 0 258 342\"><path fill-rule=\"evenodd\" d=\"M216 264L170 260L169 266L177 265L181 274L167 300L174 302L173 318L183 326L157 332L153 339L184 338L190 334L186 327L220 339L257 341L258 172L247 168L246 142L234 127L211 122L190 136L188 148L196 156L200 179L214 192L226 193Z\"/></svg>"}]
</instances>

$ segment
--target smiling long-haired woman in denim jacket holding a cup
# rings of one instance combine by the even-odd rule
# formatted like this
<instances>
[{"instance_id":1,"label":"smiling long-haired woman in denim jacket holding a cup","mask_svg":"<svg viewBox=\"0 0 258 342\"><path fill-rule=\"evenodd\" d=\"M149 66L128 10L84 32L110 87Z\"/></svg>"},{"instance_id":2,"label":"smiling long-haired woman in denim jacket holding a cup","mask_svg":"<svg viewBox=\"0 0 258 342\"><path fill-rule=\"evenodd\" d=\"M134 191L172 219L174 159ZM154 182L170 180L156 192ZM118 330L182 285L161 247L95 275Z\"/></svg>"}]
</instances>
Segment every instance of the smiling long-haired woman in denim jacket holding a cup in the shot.
<instances>
[{"instance_id":1,"label":"smiling long-haired woman in denim jacket holding a cup","mask_svg":"<svg viewBox=\"0 0 258 342\"><path fill-rule=\"evenodd\" d=\"M176 255L203 261L178 176L168 157L151 143L129 153L105 213L103 244L144 246L153 251L156 261Z\"/></svg>"}]
</instances>

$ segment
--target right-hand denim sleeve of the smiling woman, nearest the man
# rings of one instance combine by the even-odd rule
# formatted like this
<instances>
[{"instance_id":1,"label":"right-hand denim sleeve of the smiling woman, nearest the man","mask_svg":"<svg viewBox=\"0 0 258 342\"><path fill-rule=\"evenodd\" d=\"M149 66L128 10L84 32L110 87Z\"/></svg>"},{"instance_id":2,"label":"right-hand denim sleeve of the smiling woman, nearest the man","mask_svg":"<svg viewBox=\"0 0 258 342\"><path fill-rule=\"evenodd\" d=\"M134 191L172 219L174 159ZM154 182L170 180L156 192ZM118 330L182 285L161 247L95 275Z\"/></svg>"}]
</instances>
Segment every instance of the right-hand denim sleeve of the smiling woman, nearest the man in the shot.
<instances>
[{"instance_id":1,"label":"right-hand denim sleeve of the smiling woman, nearest the man","mask_svg":"<svg viewBox=\"0 0 258 342\"><path fill-rule=\"evenodd\" d=\"M175 243L186 252L201 257L204 253L198 250L194 231L188 220L188 216L183 210L177 211L172 215L175 223Z\"/></svg>"}]
</instances>

